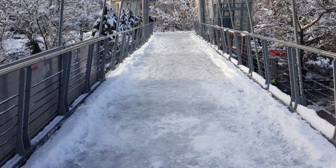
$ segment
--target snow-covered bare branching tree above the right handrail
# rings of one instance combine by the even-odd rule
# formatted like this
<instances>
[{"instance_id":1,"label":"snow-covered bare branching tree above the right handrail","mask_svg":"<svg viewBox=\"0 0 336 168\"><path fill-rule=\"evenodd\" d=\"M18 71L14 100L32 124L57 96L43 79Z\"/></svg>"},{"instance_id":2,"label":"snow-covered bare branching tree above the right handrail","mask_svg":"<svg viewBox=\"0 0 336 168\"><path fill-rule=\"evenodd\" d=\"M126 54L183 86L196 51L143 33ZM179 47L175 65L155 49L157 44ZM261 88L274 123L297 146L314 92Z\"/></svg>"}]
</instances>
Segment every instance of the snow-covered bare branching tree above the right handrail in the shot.
<instances>
[{"instance_id":1,"label":"snow-covered bare branching tree above the right handrail","mask_svg":"<svg viewBox=\"0 0 336 168\"><path fill-rule=\"evenodd\" d=\"M296 16L301 45L336 52L336 2L296 0ZM256 0L254 25L257 34L294 42L290 0ZM333 44L329 45L329 43Z\"/></svg>"}]
</instances>

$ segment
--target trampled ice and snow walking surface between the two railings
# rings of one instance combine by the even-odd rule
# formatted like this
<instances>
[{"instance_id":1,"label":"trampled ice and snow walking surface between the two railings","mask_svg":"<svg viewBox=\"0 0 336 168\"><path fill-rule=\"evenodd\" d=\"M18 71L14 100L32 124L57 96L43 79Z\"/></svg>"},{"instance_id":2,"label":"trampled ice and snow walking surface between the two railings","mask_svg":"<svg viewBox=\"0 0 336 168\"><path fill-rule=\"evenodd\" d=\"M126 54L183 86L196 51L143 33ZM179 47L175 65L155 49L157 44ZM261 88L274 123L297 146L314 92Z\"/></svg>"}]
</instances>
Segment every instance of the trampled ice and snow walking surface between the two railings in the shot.
<instances>
[{"instance_id":1,"label":"trampled ice and snow walking surface between the two railings","mask_svg":"<svg viewBox=\"0 0 336 168\"><path fill-rule=\"evenodd\" d=\"M154 34L25 167L335 167L334 146L194 33Z\"/></svg>"}]
</instances>

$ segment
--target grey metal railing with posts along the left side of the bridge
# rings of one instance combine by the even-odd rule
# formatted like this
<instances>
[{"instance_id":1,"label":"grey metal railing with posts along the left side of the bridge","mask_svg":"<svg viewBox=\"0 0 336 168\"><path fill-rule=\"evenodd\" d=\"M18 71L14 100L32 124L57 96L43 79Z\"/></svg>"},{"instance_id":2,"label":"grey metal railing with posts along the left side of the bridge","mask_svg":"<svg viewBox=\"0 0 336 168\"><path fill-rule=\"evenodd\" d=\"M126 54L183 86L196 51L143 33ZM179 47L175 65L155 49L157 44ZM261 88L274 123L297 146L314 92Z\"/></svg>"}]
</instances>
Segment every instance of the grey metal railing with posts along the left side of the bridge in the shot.
<instances>
[{"instance_id":1,"label":"grey metal railing with posts along the left side of the bridge","mask_svg":"<svg viewBox=\"0 0 336 168\"><path fill-rule=\"evenodd\" d=\"M27 158L152 32L153 23L0 66L0 166Z\"/></svg>"}]
</instances>

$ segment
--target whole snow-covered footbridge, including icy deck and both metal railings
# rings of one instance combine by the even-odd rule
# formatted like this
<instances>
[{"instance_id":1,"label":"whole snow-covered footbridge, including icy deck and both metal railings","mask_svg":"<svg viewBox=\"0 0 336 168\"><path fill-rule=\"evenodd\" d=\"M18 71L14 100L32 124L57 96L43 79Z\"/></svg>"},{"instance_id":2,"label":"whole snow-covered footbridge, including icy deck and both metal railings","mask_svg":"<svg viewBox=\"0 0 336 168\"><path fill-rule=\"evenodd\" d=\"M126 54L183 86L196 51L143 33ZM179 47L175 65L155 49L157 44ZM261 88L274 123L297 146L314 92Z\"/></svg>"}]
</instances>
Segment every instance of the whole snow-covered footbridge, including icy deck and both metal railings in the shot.
<instances>
[{"instance_id":1,"label":"whole snow-covered footbridge, including icy deck and both metal railings","mask_svg":"<svg viewBox=\"0 0 336 168\"><path fill-rule=\"evenodd\" d=\"M334 53L207 24L153 26L1 66L0 166L334 166L334 80L298 73L295 49ZM270 43L287 56L271 58ZM329 105L329 122L304 100Z\"/></svg>"}]
</instances>

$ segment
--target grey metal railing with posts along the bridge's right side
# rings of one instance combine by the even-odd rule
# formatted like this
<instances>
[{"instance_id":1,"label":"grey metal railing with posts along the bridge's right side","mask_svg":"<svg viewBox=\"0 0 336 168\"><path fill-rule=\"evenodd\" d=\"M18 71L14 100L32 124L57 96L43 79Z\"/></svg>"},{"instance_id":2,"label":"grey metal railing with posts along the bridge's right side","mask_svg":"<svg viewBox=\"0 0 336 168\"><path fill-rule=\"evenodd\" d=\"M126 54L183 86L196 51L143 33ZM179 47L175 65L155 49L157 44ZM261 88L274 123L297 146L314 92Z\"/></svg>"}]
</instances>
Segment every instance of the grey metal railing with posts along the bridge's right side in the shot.
<instances>
[{"instance_id":1,"label":"grey metal railing with posts along the bridge's right side","mask_svg":"<svg viewBox=\"0 0 336 168\"><path fill-rule=\"evenodd\" d=\"M273 94L282 103L294 111L299 104L314 108L321 118L335 125L336 53L209 24L194 22L194 27L197 35L217 46L219 53L226 54L249 77L261 76L265 89L274 85L289 95L286 99ZM335 131L326 137L336 144Z\"/></svg>"}]
</instances>

